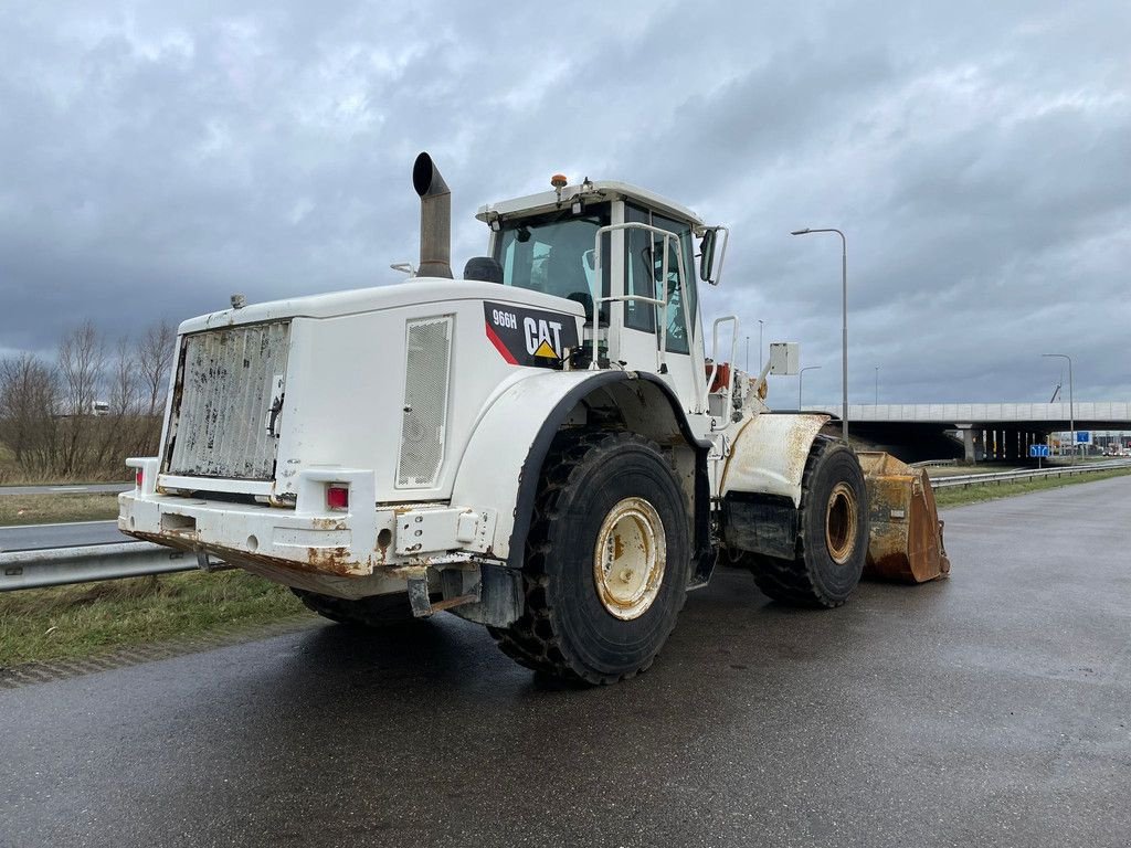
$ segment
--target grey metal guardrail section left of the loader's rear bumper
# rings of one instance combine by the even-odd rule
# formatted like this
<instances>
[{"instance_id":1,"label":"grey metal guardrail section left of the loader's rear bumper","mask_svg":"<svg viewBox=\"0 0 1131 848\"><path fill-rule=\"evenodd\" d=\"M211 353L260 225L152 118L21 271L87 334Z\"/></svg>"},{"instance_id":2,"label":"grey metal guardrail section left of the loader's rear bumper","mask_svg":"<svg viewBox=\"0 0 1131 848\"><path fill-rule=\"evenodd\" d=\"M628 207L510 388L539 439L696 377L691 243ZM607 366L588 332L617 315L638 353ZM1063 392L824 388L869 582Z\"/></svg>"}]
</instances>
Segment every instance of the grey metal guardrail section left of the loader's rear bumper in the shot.
<instances>
[{"instance_id":1,"label":"grey metal guardrail section left of the loader's rear bumper","mask_svg":"<svg viewBox=\"0 0 1131 848\"><path fill-rule=\"evenodd\" d=\"M0 553L0 591L192 571L197 557L149 542Z\"/></svg>"}]
</instances>

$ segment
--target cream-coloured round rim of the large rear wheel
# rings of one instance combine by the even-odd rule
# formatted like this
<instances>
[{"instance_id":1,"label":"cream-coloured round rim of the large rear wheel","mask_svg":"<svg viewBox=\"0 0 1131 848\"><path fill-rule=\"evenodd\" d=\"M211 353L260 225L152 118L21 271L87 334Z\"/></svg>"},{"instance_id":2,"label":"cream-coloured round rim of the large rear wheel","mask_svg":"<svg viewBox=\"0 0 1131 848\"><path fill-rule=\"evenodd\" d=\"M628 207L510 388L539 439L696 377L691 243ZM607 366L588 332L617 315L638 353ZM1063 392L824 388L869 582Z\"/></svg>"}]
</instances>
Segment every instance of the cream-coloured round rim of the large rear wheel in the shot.
<instances>
[{"instance_id":1,"label":"cream-coloured round rim of the large rear wheel","mask_svg":"<svg viewBox=\"0 0 1131 848\"><path fill-rule=\"evenodd\" d=\"M667 561L664 522L642 497L614 505L597 533L593 578L605 609L622 621L644 615L659 595Z\"/></svg>"}]
</instances>

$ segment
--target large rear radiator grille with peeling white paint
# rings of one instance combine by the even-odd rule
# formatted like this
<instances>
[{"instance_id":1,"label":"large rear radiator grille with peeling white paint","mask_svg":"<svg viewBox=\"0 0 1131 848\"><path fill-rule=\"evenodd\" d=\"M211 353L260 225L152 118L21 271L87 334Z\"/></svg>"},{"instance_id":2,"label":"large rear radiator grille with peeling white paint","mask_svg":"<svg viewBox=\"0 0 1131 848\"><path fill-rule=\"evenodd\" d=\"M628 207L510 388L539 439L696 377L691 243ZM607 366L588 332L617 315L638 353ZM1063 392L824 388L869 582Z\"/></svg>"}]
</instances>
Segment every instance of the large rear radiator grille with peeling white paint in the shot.
<instances>
[{"instance_id":1,"label":"large rear radiator grille with peeling white paint","mask_svg":"<svg viewBox=\"0 0 1131 848\"><path fill-rule=\"evenodd\" d=\"M275 322L184 339L171 474L273 478L290 337Z\"/></svg>"}]
</instances>

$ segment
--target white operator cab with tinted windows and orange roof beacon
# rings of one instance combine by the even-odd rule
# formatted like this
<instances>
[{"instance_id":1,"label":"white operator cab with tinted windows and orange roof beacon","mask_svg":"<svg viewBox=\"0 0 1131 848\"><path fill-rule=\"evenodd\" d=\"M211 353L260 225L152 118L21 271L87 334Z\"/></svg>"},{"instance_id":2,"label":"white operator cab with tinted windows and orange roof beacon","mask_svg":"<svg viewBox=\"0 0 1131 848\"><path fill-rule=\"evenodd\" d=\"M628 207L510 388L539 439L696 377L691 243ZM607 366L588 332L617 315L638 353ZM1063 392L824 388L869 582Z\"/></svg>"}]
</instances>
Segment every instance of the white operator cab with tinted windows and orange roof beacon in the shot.
<instances>
[{"instance_id":1,"label":"white operator cab with tinted windows and orange roof beacon","mask_svg":"<svg viewBox=\"0 0 1131 848\"><path fill-rule=\"evenodd\" d=\"M707 259L699 270L708 279L716 228L690 209L625 183L554 185L555 191L478 210L476 217L492 230L491 256L502 268L503 285L580 303L585 344L592 346L596 332L598 362L658 373L687 412L701 412L706 384L694 240L702 240Z\"/></svg>"}]
</instances>

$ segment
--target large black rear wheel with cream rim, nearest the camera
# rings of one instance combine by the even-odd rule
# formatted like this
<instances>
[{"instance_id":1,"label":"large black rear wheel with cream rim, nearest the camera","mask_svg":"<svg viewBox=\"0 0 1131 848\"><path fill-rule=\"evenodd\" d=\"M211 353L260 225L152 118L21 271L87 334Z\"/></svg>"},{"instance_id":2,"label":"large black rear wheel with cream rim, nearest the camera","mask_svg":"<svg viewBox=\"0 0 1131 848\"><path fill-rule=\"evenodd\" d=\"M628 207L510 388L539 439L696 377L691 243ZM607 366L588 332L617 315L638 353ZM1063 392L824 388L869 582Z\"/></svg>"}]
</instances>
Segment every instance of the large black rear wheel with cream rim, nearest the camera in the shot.
<instances>
[{"instance_id":1,"label":"large black rear wheel with cream rim, nearest the camera","mask_svg":"<svg viewBox=\"0 0 1131 848\"><path fill-rule=\"evenodd\" d=\"M623 518L630 512L646 518ZM628 585L637 573L633 562L623 564L621 553L597 557L603 525L618 516L625 523L605 530L610 552L631 547L621 544L616 528L625 528L623 538L642 540L645 526L662 526L666 555L658 533L647 537L657 539L654 548L647 542L632 548L641 551L641 573L650 576L640 591L651 599L638 602L639 609L611 597L607 588L615 583L612 591L625 597L636 591L610 572L623 568ZM648 523L656 517L659 525ZM632 535L633 527L640 536ZM605 577L598 578L598 569ZM659 448L630 433L563 434L543 467L527 536L524 613L506 629L489 630L507 656L528 668L573 683L615 683L644 672L659 654L687 599L690 569L685 499Z\"/></svg>"}]
</instances>

